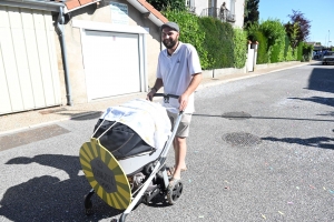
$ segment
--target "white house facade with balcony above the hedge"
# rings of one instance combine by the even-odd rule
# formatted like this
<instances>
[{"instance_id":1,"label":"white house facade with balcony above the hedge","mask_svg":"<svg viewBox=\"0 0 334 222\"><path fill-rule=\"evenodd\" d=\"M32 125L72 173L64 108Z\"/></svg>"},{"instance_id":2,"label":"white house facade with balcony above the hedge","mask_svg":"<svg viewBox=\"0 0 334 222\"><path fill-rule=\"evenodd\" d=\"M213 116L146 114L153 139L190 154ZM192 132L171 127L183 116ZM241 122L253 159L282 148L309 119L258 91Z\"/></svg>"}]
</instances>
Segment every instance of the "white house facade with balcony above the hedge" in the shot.
<instances>
[{"instance_id":1,"label":"white house facade with balcony above the hedge","mask_svg":"<svg viewBox=\"0 0 334 222\"><path fill-rule=\"evenodd\" d=\"M229 22L234 28L244 26L245 0L186 0L186 6L197 16L214 17Z\"/></svg>"}]
</instances>

